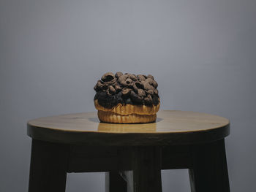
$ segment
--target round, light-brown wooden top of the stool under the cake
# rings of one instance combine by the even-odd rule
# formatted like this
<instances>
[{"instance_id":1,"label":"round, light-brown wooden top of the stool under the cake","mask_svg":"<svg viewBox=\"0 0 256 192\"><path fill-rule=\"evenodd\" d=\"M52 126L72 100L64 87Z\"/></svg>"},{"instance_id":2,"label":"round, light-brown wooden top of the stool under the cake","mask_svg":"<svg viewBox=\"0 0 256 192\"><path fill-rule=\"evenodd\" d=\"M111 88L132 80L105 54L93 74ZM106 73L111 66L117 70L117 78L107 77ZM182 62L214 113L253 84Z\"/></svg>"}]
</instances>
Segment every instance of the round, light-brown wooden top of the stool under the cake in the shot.
<instances>
[{"instance_id":1,"label":"round, light-brown wooden top of the stool under the cake","mask_svg":"<svg viewBox=\"0 0 256 192\"><path fill-rule=\"evenodd\" d=\"M56 115L29 120L33 139L83 145L183 145L212 142L230 134L230 122L217 115L164 110L156 123L100 123L97 112Z\"/></svg>"}]
</instances>

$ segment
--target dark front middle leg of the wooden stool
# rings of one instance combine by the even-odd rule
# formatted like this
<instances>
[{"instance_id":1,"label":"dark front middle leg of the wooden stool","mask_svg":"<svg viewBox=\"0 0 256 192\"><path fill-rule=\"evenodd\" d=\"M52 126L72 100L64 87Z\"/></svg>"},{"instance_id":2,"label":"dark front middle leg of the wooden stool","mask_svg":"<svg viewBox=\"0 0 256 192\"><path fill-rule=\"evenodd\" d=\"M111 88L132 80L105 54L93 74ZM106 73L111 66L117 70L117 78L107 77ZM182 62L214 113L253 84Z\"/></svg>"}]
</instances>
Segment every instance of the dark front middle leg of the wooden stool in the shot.
<instances>
[{"instance_id":1,"label":"dark front middle leg of the wooden stool","mask_svg":"<svg viewBox=\"0 0 256 192\"><path fill-rule=\"evenodd\" d=\"M161 192L162 149L135 147L133 154L133 191Z\"/></svg>"}]
</instances>

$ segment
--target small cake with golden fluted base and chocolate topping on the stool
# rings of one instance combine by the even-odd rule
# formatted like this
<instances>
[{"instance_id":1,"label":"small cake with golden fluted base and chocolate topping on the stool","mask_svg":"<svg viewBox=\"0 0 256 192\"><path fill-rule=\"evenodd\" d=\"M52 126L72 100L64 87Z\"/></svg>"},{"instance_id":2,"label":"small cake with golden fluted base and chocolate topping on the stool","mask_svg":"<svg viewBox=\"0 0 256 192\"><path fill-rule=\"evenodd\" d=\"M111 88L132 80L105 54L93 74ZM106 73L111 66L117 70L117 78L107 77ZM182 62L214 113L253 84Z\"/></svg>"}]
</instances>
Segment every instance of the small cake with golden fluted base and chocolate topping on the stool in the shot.
<instances>
[{"instance_id":1,"label":"small cake with golden fluted base and chocolate topping on the stool","mask_svg":"<svg viewBox=\"0 0 256 192\"><path fill-rule=\"evenodd\" d=\"M157 119L160 99L151 74L108 72L94 86L94 105L105 123L151 123Z\"/></svg>"}]
</instances>

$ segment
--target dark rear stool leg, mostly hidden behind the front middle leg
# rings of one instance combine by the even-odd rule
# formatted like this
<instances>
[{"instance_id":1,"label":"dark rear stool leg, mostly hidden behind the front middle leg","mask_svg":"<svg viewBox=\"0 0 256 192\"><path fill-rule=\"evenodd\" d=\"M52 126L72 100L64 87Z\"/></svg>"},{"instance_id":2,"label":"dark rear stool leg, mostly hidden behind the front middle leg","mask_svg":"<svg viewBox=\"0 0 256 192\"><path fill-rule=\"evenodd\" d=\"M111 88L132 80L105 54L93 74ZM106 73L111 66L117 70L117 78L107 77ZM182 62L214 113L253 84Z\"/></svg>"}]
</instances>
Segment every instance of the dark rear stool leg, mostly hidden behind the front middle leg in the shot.
<instances>
[{"instance_id":1,"label":"dark rear stool leg, mostly hidden behind the front middle leg","mask_svg":"<svg viewBox=\"0 0 256 192\"><path fill-rule=\"evenodd\" d=\"M127 182L118 172L106 172L105 184L106 192L127 192Z\"/></svg>"}]
</instances>

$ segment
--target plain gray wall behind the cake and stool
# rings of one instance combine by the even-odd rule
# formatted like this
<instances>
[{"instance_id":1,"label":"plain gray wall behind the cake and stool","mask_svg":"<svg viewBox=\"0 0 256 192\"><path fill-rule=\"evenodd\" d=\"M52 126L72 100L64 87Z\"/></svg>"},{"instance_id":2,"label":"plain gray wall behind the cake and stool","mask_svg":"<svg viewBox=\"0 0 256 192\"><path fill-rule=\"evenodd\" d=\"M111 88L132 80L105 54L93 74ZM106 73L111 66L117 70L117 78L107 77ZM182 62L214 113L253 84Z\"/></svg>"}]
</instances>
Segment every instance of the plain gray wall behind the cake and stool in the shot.
<instances>
[{"instance_id":1,"label":"plain gray wall behind the cake and stool","mask_svg":"<svg viewBox=\"0 0 256 192\"><path fill-rule=\"evenodd\" d=\"M27 191L26 121L94 111L105 72L153 74L162 110L231 120L233 192L255 189L256 1L0 0L0 191ZM189 191L187 170L163 188ZM69 174L67 191L104 189L104 174Z\"/></svg>"}]
</instances>

